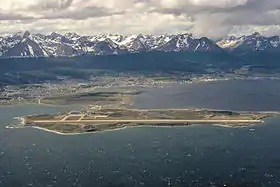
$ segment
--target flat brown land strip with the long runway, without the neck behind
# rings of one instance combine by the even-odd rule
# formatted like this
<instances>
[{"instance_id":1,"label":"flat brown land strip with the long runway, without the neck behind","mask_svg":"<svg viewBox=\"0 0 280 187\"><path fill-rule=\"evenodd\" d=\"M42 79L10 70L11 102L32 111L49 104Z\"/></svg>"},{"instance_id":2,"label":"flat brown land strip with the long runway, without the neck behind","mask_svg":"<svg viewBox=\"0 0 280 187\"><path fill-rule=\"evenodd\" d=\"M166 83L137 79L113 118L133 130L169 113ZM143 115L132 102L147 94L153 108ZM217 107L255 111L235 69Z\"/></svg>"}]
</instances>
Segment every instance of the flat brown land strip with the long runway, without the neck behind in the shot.
<instances>
[{"instance_id":1,"label":"flat brown land strip with the long runway, without the neck behind","mask_svg":"<svg viewBox=\"0 0 280 187\"><path fill-rule=\"evenodd\" d=\"M136 126L190 126L218 124L242 127L262 123L278 113L232 112L205 109L129 109L91 107L54 115L23 117L23 125L60 134L100 132Z\"/></svg>"}]
</instances>

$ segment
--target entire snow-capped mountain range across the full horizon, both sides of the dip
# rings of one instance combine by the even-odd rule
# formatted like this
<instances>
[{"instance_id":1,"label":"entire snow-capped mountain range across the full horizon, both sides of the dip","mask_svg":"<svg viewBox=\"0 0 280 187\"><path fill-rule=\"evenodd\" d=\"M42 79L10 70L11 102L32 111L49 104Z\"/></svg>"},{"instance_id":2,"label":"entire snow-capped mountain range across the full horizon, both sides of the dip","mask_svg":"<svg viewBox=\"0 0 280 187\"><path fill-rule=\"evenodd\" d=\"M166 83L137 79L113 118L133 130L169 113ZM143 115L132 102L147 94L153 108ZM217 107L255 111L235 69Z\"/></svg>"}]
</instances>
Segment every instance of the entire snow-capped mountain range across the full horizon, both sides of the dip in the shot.
<instances>
[{"instance_id":1,"label":"entire snow-capped mountain range across the full horizon, both sides of the dip","mask_svg":"<svg viewBox=\"0 0 280 187\"><path fill-rule=\"evenodd\" d=\"M2 57L58 57L79 55L118 55L148 51L162 52L230 52L280 51L280 37L229 36L219 41L192 34L80 36L76 33L37 34L18 32L0 36Z\"/></svg>"}]
</instances>

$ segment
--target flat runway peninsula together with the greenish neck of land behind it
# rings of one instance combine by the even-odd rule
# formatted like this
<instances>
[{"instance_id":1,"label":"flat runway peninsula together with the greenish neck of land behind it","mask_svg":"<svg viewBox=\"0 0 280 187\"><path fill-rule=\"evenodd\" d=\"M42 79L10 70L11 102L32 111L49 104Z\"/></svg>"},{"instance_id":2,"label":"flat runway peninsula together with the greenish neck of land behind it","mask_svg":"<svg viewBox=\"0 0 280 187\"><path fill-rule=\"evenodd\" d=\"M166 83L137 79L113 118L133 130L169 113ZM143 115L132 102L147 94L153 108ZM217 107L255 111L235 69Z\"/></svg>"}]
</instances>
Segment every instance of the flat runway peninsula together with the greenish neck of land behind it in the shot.
<instances>
[{"instance_id":1,"label":"flat runway peninsula together with the greenish neck of land behind it","mask_svg":"<svg viewBox=\"0 0 280 187\"><path fill-rule=\"evenodd\" d=\"M133 97L141 92L141 89L131 88L94 89L69 96L42 98L41 104L74 104L83 106L83 109L59 114L24 116L19 118L22 121L20 127L39 128L59 134L101 132L138 126L214 124L225 127L247 127L263 123L265 118L280 114L210 109L135 109Z\"/></svg>"}]
</instances>

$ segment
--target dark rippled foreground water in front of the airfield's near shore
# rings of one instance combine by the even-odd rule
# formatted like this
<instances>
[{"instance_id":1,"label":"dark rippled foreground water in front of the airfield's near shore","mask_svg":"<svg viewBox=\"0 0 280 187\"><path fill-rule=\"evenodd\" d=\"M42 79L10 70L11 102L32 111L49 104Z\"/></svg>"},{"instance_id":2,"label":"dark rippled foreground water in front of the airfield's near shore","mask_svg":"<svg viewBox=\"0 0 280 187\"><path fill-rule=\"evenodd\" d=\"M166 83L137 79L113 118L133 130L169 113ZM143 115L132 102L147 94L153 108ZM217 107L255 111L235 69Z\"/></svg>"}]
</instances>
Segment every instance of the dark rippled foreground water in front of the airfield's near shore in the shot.
<instances>
[{"instance_id":1,"label":"dark rippled foreground water in front of the airfield's near shore","mask_svg":"<svg viewBox=\"0 0 280 187\"><path fill-rule=\"evenodd\" d=\"M20 186L16 176L23 187L277 187L279 120L254 129L130 128L71 137L6 130L0 186Z\"/></svg>"}]
</instances>

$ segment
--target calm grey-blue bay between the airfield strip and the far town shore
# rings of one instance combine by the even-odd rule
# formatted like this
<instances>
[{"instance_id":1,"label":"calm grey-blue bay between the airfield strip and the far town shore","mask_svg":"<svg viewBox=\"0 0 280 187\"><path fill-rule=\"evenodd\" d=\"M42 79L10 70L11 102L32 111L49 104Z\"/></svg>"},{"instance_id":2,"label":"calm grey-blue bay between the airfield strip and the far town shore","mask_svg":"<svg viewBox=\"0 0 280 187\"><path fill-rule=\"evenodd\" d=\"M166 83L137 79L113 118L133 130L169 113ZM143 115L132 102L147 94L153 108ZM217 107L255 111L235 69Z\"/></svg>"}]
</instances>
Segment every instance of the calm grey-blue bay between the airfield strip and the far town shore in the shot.
<instances>
[{"instance_id":1,"label":"calm grey-blue bay between the airfield strip and the far town shore","mask_svg":"<svg viewBox=\"0 0 280 187\"><path fill-rule=\"evenodd\" d=\"M241 111L278 111L280 81L235 80L148 89L136 96L138 108L211 108Z\"/></svg>"}]
</instances>

